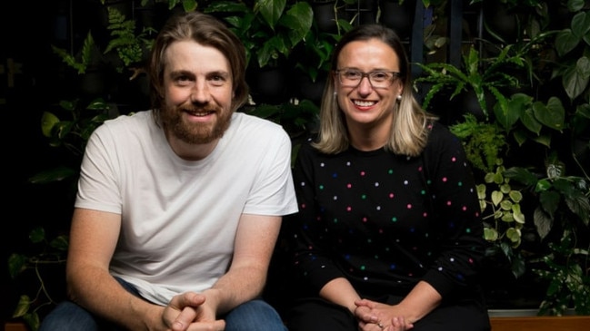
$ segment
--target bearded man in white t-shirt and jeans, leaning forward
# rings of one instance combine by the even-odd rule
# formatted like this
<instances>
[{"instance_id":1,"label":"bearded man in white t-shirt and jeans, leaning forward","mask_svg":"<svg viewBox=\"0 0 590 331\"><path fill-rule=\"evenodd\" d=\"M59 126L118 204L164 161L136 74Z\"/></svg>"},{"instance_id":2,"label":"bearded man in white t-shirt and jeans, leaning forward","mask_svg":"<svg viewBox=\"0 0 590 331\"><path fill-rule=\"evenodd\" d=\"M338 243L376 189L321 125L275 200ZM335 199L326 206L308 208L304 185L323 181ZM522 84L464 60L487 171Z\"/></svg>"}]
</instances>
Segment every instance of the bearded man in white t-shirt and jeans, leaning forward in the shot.
<instances>
[{"instance_id":1,"label":"bearded man in white t-shirt and jeans, leaning forward","mask_svg":"<svg viewBox=\"0 0 590 331\"><path fill-rule=\"evenodd\" d=\"M153 110L88 141L67 260L71 301L41 330L284 330L258 299L283 215L291 141L235 112L245 49L214 17L172 17L150 61Z\"/></svg>"}]
</instances>

